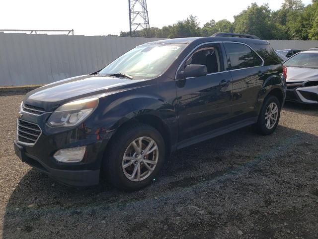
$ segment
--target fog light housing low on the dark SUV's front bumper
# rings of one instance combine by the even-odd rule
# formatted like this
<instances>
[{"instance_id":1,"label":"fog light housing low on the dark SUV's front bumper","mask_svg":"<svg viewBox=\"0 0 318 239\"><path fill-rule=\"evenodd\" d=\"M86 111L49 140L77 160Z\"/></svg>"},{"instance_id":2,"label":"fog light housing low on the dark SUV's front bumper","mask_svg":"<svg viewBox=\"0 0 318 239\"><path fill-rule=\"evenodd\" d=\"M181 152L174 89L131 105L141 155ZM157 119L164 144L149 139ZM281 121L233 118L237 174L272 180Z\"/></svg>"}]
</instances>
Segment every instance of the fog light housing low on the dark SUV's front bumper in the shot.
<instances>
[{"instance_id":1,"label":"fog light housing low on the dark SUV's front bumper","mask_svg":"<svg viewBox=\"0 0 318 239\"><path fill-rule=\"evenodd\" d=\"M59 162L80 162L85 154L86 146L63 148L55 152L53 157Z\"/></svg>"}]
</instances>

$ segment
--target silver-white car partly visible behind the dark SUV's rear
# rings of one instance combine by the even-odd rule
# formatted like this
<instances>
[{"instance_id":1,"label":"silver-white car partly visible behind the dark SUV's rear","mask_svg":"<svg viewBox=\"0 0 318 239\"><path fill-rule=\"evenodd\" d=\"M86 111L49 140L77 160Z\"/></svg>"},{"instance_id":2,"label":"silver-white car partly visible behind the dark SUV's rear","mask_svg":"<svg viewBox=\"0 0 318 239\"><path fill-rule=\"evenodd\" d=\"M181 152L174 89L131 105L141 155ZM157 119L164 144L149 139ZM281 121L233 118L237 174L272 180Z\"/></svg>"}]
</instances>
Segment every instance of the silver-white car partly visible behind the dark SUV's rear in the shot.
<instances>
[{"instance_id":1,"label":"silver-white car partly visible behind the dark SUV's rear","mask_svg":"<svg viewBox=\"0 0 318 239\"><path fill-rule=\"evenodd\" d=\"M285 61L286 101L318 105L318 51L303 51Z\"/></svg>"}]
</instances>

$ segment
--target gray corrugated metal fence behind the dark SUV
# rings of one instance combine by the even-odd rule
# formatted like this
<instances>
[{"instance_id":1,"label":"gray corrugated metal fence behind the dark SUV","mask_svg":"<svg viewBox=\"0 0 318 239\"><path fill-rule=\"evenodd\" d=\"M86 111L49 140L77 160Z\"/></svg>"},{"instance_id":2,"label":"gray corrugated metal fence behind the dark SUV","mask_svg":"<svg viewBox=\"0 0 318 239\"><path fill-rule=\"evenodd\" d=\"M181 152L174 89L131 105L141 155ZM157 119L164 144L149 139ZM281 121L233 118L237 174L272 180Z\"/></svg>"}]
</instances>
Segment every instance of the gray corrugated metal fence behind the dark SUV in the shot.
<instances>
[{"instance_id":1,"label":"gray corrugated metal fence behind the dark SUV","mask_svg":"<svg viewBox=\"0 0 318 239\"><path fill-rule=\"evenodd\" d=\"M91 73L135 46L159 39L0 32L0 86L47 84ZM318 41L270 43L275 50L318 46Z\"/></svg>"}]
</instances>

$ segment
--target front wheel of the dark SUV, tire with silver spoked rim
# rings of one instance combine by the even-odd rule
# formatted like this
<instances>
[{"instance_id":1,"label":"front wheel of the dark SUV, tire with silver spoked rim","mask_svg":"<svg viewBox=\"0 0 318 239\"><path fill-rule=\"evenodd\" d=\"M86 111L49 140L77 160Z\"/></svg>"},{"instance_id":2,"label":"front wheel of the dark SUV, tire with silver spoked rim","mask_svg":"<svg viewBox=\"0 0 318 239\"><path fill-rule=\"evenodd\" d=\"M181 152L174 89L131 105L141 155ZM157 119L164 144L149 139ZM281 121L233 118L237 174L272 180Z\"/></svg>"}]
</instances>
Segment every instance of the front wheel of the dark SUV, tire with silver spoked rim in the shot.
<instances>
[{"instance_id":1,"label":"front wheel of the dark SUV, tire with silver spoked rim","mask_svg":"<svg viewBox=\"0 0 318 239\"><path fill-rule=\"evenodd\" d=\"M139 139L142 142L141 147ZM147 146L152 140L154 143L148 153ZM140 148L145 152L140 151ZM108 182L116 188L128 191L139 190L149 185L158 175L164 157L165 143L159 131L147 124L133 123L123 126L114 135L103 159L103 173Z\"/></svg>"}]
</instances>

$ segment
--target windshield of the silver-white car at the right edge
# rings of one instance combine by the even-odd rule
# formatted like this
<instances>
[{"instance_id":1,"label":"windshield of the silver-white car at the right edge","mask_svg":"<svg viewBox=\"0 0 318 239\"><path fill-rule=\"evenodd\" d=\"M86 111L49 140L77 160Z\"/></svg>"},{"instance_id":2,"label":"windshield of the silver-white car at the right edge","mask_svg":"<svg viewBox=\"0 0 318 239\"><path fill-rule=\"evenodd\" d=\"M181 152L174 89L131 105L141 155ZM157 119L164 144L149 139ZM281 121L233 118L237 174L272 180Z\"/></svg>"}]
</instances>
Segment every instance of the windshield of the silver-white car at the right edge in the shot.
<instances>
[{"instance_id":1,"label":"windshield of the silver-white car at the right edge","mask_svg":"<svg viewBox=\"0 0 318 239\"><path fill-rule=\"evenodd\" d=\"M285 61L284 66L318 68L318 54L301 53Z\"/></svg>"}]
</instances>

